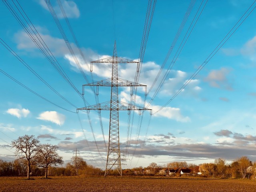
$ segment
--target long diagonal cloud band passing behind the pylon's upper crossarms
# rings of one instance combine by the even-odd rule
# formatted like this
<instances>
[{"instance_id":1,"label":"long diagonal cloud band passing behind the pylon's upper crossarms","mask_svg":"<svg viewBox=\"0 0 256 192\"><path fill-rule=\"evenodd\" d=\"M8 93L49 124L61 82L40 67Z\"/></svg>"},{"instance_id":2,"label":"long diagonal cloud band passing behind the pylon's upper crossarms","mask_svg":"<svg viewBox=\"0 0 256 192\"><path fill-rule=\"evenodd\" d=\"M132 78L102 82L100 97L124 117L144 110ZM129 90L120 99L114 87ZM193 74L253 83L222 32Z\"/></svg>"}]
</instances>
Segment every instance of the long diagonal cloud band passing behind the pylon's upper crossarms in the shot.
<instances>
[{"instance_id":1,"label":"long diagonal cloud band passing behind the pylon's upper crossarms","mask_svg":"<svg viewBox=\"0 0 256 192\"><path fill-rule=\"evenodd\" d=\"M68 62L72 66L72 69L78 71L78 66L74 61L73 56L70 54L65 41L63 39L50 36L49 34L47 34L47 30L45 30L42 27L38 26L37 28L39 28L40 36L44 39L44 42L46 42L46 44L48 45L49 49L53 52L53 54L56 56L63 56L64 59L68 60ZM15 34L15 40L18 44L19 49L25 49L27 52L33 52L33 55L34 55L34 52L38 51L34 42L32 42L32 40L28 37L28 35L23 31L17 32ZM72 47L76 48L75 44L73 43L70 43L70 44ZM87 73L90 72L90 67L88 67L90 65L90 61L110 57L109 55L100 55L86 48L82 48L82 51L84 52L84 55L86 55L87 62L89 61L88 63L84 63L84 60L80 56L78 49L74 49L74 52L76 54L78 62L80 63L80 66ZM138 61L138 59L135 59L135 60ZM119 78L130 80L133 82L135 73L136 73L136 67L137 66L135 63L119 65L118 66ZM112 74L111 64L97 63L93 65L92 69L93 69L93 73L99 77L102 77L102 78L111 77L111 74ZM160 69L160 65L156 64L155 62L151 62L151 61L144 62L142 71L140 73L140 83L147 85L149 89L154 81L152 77L155 77L158 74L159 69ZM161 82L163 74L165 72L166 70L162 71L162 74L158 78L158 81L156 81L156 85L158 85ZM179 90L179 88L184 85L187 74L186 72L183 72L180 70L172 70L170 71L169 76L170 78L167 78L165 80L161 88L161 92L159 93L161 96L165 96L165 97L171 96L172 94L174 94L174 92ZM195 96L196 94L198 94L198 91L201 90L199 83L200 82L197 79L192 80L190 84L186 86L183 92L186 92L186 95L192 94L192 96ZM156 87L157 86L155 86L152 89L151 93L153 93L156 90ZM138 88L138 92L144 93L144 90L142 90L142 88Z\"/></svg>"}]
</instances>

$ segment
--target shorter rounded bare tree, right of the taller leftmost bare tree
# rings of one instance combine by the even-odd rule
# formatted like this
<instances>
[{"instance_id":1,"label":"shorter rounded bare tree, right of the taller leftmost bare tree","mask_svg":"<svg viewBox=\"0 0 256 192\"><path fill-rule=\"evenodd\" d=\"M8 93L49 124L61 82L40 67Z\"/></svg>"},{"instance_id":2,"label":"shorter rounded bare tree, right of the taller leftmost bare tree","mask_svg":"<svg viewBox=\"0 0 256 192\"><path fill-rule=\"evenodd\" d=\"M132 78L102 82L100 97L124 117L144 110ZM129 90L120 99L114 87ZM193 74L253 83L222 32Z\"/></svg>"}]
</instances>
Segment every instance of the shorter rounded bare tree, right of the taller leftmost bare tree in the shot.
<instances>
[{"instance_id":1,"label":"shorter rounded bare tree, right of the taller leftmost bare tree","mask_svg":"<svg viewBox=\"0 0 256 192\"><path fill-rule=\"evenodd\" d=\"M48 176L48 167L53 164L63 164L62 157L57 153L58 146L51 144L43 144L38 150L35 161L36 165L45 168L45 178Z\"/></svg>"}]
</instances>

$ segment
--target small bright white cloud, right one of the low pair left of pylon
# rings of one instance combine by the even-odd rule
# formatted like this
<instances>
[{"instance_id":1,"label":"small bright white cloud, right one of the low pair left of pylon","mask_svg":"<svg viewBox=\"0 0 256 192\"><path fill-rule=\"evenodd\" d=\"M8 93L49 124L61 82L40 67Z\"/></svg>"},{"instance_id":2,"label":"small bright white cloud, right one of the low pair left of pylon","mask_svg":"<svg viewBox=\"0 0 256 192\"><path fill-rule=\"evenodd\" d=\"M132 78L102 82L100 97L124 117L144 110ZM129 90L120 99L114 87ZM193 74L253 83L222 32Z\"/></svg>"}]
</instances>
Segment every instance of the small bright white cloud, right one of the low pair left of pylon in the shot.
<instances>
[{"instance_id":1,"label":"small bright white cloud, right one of the low pair left of pylon","mask_svg":"<svg viewBox=\"0 0 256 192\"><path fill-rule=\"evenodd\" d=\"M58 125L63 125L66 117L63 114L59 114L56 111L45 111L39 115L38 119L50 121Z\"/></svg>"}]
</instances>

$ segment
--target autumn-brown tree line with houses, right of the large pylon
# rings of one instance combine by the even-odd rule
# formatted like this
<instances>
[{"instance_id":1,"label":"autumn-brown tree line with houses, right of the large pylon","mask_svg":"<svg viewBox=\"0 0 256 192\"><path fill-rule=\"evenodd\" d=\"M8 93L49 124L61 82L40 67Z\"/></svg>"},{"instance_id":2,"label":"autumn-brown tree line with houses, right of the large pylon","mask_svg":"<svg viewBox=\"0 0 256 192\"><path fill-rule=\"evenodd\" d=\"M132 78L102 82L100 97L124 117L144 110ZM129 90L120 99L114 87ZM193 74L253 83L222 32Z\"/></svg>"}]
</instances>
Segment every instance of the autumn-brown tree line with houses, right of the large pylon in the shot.
<instances>
[{"instance_id":1,"label":"autumn-brown tree line with houses, right of the large pylon","mask_svg":"<svg viewBox=\"0 0 256 192\"><path fill-rule=\"evenodd\" d=\"M181 173L180 171L186 171ZM112 174L115 172L113 171ZM155 162L147 167L137 167L123 171L124 175L146 175L146 176L200 176L206 178L256 178L256 162L250 161L246 156L237 158L230 164L223 158L217 158L212 163L192 164L186 161L170 162L158 165Z\"/></svg>"}]
</instances>

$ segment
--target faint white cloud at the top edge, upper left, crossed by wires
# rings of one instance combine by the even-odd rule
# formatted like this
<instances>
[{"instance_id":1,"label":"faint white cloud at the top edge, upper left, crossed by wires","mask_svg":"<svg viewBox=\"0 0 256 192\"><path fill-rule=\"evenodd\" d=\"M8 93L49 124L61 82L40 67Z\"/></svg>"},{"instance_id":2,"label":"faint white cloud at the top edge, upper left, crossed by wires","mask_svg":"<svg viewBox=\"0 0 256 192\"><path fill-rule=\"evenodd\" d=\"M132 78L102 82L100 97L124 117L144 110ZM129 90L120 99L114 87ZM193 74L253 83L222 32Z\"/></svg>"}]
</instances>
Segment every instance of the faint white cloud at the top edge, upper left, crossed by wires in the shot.
<instances>
[{"instance_id":1,"label":"faint white cloud at the top edge, upper left, crossed by wires","mask_svg":"<svg viewBox=\"0 0 256 192\"><path fill-rule=\"evenodd\" d=\"M45 0L40 0L39 4L46 10L49 11L48 6L45 2ZM80 11L74 1L67 1L67 0L61 0L61 4L63 9L65 10L66 16L68 18L78 18L80 16ZM64 18L59 6L56 4L53 6L54 11L58 18Z\"/></svg>"}]
</instances>

